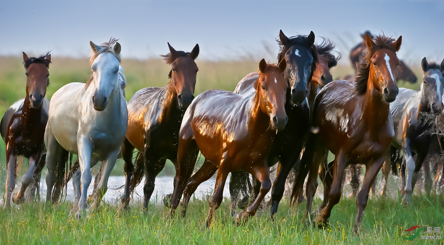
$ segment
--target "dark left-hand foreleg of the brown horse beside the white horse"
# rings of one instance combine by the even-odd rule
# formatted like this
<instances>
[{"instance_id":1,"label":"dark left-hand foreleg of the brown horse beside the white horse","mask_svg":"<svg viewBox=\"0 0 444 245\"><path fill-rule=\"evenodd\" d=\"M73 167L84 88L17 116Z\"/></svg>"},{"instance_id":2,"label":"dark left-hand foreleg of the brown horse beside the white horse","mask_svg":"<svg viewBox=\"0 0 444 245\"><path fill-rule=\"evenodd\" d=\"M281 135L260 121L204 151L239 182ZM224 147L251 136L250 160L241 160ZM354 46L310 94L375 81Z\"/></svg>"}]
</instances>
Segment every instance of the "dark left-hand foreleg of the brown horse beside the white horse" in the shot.
<instances>
[{"instance_id":1,"label":"dark left-hand foreleg of the brown horse beside the white horse","mask_svg":"<svg viewBox=\"0 0 444 245\"><path fill-rule=\"evenodd\" d=\"M130 202L130 181L134 170L133 151L134 146L125 137L125 140L123 140L122 144L122 158L125 161L125 165L123 167L123 169L125 170L125 190L123 191L122 205L125 208L129 207Z\"/></svg>"}]
</instances>

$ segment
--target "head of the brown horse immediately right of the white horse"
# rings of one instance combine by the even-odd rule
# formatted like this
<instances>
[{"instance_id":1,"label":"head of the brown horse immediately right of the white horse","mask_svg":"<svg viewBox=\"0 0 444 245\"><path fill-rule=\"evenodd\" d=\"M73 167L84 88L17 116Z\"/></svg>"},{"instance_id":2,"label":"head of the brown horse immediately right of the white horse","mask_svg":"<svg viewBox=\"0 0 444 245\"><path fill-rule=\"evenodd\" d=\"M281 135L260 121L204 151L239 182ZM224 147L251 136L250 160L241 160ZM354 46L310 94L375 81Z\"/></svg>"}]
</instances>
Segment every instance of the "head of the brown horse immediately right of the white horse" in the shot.
<instances>
[{"instance_id":1,"label":"head of the brown horse immediately right of the white horse","mask_svg":"<svg viewBox=\"0 0 444 245\"><path fill-rule=\"evenodd\" d=\"M194 60L199 55L199 45L196 44L190 53L176 51L171 47L170 53L161 55L167 64L171 64L170 83L177 94L177 101L180 109L186 110L194 99L194 87L196 86L196 76L199 68Z\"/></svg>"}]
</instances>

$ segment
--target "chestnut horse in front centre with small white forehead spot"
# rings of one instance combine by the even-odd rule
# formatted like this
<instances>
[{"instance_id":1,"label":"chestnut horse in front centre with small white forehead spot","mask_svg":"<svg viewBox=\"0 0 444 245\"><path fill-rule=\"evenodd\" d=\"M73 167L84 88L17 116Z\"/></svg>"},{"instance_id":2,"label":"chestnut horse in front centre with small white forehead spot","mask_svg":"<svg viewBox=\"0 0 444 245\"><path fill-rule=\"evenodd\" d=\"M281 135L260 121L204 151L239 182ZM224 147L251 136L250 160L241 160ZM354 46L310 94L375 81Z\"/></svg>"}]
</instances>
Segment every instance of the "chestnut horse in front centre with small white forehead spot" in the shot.
<instances>
[{"instance_id":1,"label":"chestnut horse in front centre with small white forehead spot","mask_svg":"<svg viewBox=\"0 0 444 245\"><path fill-rule=\"evenodd\" d=\"M285 59L278 66L267 64L262 59L254 91L237 94L214 89L194 99L180 128L176 167L179 171L175 177L170 214L174 214L184 190L182 215L185 215L191 194L216 171L206 227L211 225L214 211L222 202L226 178L233 171L246 171L261 182L258 196L246 211L238 214L238 222L256 214L271 188L268 153L276 132L282 130L288 121L285 102L289 84L282 75L286 66ZM199 150L205 156L205 162L186 182L194 169Z\"/></svg>"}]
</instances>

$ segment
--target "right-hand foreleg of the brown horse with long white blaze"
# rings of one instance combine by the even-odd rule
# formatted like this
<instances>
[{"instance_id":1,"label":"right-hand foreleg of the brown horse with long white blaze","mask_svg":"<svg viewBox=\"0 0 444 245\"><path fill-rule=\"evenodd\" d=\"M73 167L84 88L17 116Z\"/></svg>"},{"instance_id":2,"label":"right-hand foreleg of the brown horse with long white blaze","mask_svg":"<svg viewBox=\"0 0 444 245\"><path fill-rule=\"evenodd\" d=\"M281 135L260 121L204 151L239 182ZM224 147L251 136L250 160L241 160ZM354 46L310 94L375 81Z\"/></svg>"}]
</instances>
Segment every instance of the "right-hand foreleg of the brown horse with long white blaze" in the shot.
<instances>
[{"instance_id":1,"label":"right-hand foreleg of the brown horse with long white blaze","mask_svg":"<svg viewBox=\"0 0 444 245\"><path fill-rule=\"evenodd\" d=\"M353 232L355 234L358 234L358 229L361 226L362 214L364 213L365 206L367 206L367 202L369 200L370 186L374 182L376 175L378 174L379 170L382 167L382 164L384 164L384 160L385 159L383 156L365 165L364 181L362 182L361 191L359 191L359 194L357 195L356 199L356 205L358 210L356 214L355 225L353 226Z\"/></svg>"}]
</instances>

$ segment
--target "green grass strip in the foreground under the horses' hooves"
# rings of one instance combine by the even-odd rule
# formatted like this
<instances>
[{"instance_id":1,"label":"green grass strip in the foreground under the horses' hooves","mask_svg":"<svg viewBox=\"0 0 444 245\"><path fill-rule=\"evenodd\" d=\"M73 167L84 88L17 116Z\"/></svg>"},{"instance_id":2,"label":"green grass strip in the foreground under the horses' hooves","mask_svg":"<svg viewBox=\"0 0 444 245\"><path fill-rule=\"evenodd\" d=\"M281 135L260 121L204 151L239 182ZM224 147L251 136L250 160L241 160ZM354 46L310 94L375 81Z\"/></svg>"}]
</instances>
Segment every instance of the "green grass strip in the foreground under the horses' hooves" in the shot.
<instances>
[{"instance_id":1,"label":"green grass strip in the foreground under the horses' hooves","mask_svg":"<svg viewBox=\"0 0 444 245\"><path fill-rule=\"evenodd\" d=\"M401 229L414 225L442 227L444 223L444 199L432 196L429 200L431 203L415 196L408 207L394 200L369 200L359 237L352 232L356 202L346 198L334 207L325 229L303 225L305 204L299 210L289 208L286 199L273 222L268 219L267 208L241 226L232 223L225 199L208 230L203 229L209 209L207 198L192 200L184 219L165 218L167 209L160 205L149 206L146 213L140 205L130 211L104 205L76 220L68 216L69 202L53 208L32 203L0 211L0 244L410 244L397 234L412 232L402 233ZM313 207L320 202L315 199ZM419 237L411 243L432 244Z\"/></svg>"}]
</instances>

